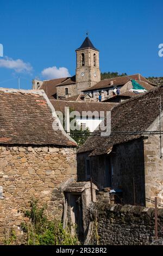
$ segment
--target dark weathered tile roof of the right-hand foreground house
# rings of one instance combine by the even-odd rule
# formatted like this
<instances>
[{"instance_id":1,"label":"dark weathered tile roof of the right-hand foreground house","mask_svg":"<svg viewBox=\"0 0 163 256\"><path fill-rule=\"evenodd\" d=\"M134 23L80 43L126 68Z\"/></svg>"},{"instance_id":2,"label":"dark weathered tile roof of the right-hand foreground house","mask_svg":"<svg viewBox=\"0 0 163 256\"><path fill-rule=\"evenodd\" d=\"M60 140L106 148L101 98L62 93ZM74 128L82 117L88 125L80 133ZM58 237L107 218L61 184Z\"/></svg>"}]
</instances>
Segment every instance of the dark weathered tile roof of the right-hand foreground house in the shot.
<instances>
[{"instance_id":1,"label":"dark weathered tile roof of the right-hand foreground house","mask_svg":"<svg viewBox=\"0 0 163 256\"><path fill-rule=\"evenodd\" d=\"M108 153L113 145L142 136L143 131L159 116L163 109L163 86L118 104L111 111L111 135L94 132L79 148L78 153L90 151L90 156Z\"/></svg>"}]
</instances>

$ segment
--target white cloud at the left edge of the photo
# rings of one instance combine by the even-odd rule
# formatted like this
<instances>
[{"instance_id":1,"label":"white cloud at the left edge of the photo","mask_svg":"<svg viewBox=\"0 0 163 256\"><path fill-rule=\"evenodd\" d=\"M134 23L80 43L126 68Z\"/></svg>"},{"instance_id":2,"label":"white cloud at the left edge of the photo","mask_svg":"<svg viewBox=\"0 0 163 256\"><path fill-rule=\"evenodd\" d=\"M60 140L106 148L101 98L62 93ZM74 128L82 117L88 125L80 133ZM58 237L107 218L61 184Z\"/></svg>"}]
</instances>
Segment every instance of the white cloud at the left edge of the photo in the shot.
<instances>
[{"instance_id":1,"label":"white cloud at the left edge of the photo","mask_svg":"<svg viewBox=\"0 0 163 256\"><path fill-rule=\"evenodd\" d=\"M30 73L33 68L30 63L23 62L21 59L5 57L0 59L0 68L13 69L17 73Z\"/></svg>"}]
</instances>

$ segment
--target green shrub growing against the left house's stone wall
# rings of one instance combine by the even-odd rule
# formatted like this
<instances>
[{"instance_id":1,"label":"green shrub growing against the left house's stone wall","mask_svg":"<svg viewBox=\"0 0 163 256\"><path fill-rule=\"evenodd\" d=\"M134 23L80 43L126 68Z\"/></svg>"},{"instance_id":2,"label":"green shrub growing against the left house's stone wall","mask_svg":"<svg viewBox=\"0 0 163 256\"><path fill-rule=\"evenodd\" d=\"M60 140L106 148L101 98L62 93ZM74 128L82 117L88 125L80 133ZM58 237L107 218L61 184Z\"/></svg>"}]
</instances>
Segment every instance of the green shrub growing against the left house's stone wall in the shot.
<instances>
[{"instance_id":1,"label":"green shrub growing against the left house's stone wall","mask_svg":"<svg viewBox=\"0 0 163 256\"><path fill-rule=\"evenodd\" d=\"M45 209L45 206L37 208L37 200L30 202L30 211L25 212L30 221L21 224L22 231L27 234L27 245L78 245L77 236L73 236L68 227L64 229L62 222L49 221Z\"/></svg>"}]
</instances>

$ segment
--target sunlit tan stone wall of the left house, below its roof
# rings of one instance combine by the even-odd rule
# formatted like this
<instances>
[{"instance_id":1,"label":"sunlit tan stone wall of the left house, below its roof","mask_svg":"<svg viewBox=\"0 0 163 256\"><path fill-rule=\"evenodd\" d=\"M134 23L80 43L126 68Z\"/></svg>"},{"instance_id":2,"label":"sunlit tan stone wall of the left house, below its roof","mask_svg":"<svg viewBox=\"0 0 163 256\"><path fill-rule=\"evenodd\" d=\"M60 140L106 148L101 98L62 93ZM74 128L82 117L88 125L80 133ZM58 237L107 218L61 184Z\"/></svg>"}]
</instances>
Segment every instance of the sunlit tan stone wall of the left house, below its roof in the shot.
<instances>
[{"instance_id":1,"label":"sunlit tan stone wall of the left house, below its roof","mask_svg":"<svg viewBox=\"0 0 163 256\"><path fill-rule=\"evenodd\" d=\"M76 148L0 147L0 243L9 227L27 221L30 199L47 204L49 218L61 218L66 182L76 179Z\"/></svg>"}]
</instances>

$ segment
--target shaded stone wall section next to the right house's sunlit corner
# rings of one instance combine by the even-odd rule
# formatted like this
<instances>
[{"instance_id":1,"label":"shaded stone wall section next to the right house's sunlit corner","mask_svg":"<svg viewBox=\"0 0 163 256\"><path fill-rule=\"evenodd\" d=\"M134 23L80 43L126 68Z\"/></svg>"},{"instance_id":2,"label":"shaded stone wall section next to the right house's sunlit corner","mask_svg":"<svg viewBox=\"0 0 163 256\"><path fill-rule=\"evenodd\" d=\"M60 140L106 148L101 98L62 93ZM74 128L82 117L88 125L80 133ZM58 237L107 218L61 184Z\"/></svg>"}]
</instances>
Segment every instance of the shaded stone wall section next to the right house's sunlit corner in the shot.
<instances>
[{"instance_id":1,"label":"shaded stone wall section next to the right house's sunlit corner","mask_svg":"<svg viewBox=\"0 0 163 256\"><path fill-rule=\"evenodd\" d=\"M112 187L123 192L123 204L145 205L145 164L143 139L135 139L117 145L111 162L113 168Z\"/></svg>"}]
</instances>

